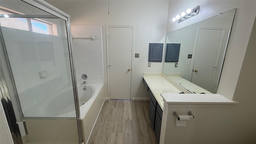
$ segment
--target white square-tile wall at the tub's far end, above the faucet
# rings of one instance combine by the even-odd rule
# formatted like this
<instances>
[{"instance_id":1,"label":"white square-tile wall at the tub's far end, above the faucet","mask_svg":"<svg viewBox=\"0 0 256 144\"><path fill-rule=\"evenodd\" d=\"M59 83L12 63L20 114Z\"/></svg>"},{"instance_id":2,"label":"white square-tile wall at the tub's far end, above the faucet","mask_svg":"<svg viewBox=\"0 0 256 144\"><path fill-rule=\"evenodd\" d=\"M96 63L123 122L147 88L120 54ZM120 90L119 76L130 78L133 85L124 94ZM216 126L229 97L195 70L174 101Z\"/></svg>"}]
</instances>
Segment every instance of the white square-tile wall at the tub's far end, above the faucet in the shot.
<instances>
[{"instance_id":1,"label":"white square-tile wall at the tub's far end, above the faucet","mask_svg":"<svg viewBox=\"0 0 256 144\"><path fill-rule=\"evenodd\" d=\"M82 84L81 76L86 74L87 84L103 84L102 26L71 25L71 32L74 37L95 37L73 40L77 83Z\"/></svg>"}]
</instances>

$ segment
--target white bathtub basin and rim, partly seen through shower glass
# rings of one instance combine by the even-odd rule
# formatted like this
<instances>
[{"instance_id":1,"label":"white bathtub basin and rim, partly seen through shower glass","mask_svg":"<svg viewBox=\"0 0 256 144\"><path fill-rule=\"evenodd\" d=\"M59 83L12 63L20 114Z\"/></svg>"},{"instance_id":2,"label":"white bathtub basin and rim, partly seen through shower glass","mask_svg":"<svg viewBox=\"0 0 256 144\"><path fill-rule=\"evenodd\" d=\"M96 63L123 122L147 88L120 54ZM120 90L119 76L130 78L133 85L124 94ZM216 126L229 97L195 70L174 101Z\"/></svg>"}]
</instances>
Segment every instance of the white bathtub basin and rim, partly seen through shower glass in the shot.
<instances>
[{"instance_id":1,"label":"white bathtub basin and rim, partly seen through shower glass","mask_svg":"<svg viewBox=\"0 0 256 144\"><path fill-rule=\"evenodd\" d=\"M86 86L86 90L83 90L84 86ZM103 84L77 85L80 118L85 116L102 86ZM31 117L76 118L74 97L71 95L73 95L72 85L67 85L50 97L34 104L23 114L24 116L32 115Z\"/></svg>"}]
</instances>

